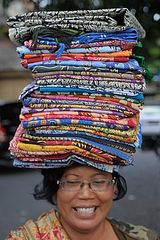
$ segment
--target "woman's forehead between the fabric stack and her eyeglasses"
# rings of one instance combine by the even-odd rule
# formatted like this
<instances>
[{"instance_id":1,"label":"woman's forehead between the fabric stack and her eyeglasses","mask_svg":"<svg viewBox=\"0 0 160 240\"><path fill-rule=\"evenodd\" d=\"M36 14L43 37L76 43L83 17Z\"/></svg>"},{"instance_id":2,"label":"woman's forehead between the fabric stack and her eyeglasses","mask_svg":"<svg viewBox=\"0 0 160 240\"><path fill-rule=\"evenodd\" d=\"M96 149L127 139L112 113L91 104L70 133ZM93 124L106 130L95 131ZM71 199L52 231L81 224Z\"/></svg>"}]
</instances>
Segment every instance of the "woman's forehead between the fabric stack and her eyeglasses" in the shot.
<instances>
[{"instance_id":1,"label":"woman's forehead between the fabric stack and her eyeglasses","mask_svg":"<svg viewBox=\"0 0 160 240\"><path fill-rule=\"evenodd\" d=\"M66 168L63 175L64 176L75 175L80 177L90 177L94 175L112 176L111 173L104 172L96 168L83 166L83 165Z\"/></svg>"}]
</instances>

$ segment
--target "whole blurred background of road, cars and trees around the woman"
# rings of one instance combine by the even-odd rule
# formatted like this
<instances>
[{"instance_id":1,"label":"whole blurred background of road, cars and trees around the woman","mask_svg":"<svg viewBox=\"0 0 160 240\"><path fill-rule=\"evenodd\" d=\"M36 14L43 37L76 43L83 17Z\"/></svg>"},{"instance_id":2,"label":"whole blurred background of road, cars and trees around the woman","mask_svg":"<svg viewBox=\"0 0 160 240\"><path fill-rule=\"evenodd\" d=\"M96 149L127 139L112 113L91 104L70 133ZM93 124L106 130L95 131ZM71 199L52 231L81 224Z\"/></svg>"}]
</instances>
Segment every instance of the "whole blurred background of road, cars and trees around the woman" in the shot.
<instances>
[{"instance_id":1,"label":"whole blurred background of road, cars and trees around the woman","mask_svg":"<svg viewBox=\"0 0 160 240\"><path fill-rule=\"evenodd\" d=\"M32 197L34 185L41 180L39 171L15 169L9 157L8 144L19 124L18 96L32 78L8 39L6 19L30 11L114 7L128 8L146 30L136 55L145 57L150 78L141 114L142 149L137 151L134 167L123 171L128 193L114 203L111 216L160 232L160 0L0 0L0 239L51 207Z\"/></svg>"}]
</instances>

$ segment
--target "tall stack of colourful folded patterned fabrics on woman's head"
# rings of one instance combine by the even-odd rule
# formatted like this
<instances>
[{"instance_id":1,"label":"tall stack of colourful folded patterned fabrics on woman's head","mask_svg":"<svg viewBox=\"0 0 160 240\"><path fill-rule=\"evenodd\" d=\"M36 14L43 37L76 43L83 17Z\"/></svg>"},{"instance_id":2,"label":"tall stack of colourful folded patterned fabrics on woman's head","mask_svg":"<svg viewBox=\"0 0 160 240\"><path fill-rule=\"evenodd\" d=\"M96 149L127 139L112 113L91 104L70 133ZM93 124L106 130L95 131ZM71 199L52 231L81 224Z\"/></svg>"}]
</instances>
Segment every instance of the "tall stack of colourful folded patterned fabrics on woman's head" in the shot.
<instances>
[{"instance_id":1,"label":"tall stack of colourful folded patterned fabrics on woman's head","mask_svg":"<svg viewBox=\"0 0 160 240\"><path fill-rule=\"evenodd\" d=\"M145 87L133 50L145 32L130 11L32 12L8 24L21 64L33 75L20 95L14 165L79 162L112 172L132 164Z\"/></svg>"}]
</instances>

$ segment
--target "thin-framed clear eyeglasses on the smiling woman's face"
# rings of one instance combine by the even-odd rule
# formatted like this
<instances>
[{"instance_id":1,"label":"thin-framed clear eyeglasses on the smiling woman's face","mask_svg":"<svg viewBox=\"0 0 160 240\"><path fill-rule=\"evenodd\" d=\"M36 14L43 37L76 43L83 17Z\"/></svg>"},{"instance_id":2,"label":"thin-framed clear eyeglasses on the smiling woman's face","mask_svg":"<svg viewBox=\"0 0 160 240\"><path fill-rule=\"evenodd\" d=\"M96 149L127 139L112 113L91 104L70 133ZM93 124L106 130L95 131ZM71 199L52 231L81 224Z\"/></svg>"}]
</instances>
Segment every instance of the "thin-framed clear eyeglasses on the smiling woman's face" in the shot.
<instances>
[{"instance_id":1,"label":"thin-framed clear eyeglasses on the smiling woman's face","mask_svg":"<svg viewBox=\"0 0 160 240\"><path fill-rule=\"evenodd\" d=\"M94 192L101 192L109 190L116 183L116 179L97 179L90 182L81 180L58 180L57 184L64 191L78 192L84 185L88 185Z\"/></svg>"}]
</instances>

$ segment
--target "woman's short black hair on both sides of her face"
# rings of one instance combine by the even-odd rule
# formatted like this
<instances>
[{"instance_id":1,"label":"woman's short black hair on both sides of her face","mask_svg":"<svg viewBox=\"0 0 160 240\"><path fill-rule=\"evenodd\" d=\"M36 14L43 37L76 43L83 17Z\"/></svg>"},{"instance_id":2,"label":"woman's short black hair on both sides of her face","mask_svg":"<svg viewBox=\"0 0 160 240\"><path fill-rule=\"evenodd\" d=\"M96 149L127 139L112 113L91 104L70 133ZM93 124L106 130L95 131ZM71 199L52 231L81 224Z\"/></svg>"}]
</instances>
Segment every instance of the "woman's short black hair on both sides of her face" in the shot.
<instances>
[{"instance_id":1,"label":"woman's short black hair on both sides of her face","mask_svg":"<svg viewBox=\"0 0 160 240\"><path fill-rule=\"evenodd\" d=\"M61 179L64 171L65 168L41 170L43 181L34 187L34 198L37 200L45 199L52 205L56 205L53 200L53 196L57 193L59 188L57 180ZM112 176L116 180L117 186L114 200L119 200L127 193L127 183L125 178L119 175L117 172L113 172Z\"/></svg>"}]
</instances>

